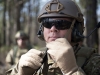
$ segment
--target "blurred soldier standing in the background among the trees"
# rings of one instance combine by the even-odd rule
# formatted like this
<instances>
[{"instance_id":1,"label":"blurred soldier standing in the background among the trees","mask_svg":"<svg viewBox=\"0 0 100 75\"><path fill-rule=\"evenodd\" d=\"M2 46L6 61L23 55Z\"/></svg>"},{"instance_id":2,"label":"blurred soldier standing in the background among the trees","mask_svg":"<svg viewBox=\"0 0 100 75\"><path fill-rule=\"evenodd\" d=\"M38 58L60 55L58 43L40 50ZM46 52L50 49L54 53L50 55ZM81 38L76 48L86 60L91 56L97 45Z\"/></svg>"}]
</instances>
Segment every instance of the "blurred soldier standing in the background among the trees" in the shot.
<instances>
[{"instance_id":1,"label":"blurred soldier standing in the background among the trees","mask_svg":"<svg viewBox=\"0 0 100 75\"><path fill-rule=\"evenodd\" d=\"M24 31L18 31L15 35L15 39L17 45L9 51L6 57L8 66L17 64L21 55L32 48L31 44L29 43L29 37Z\"/></svg>"}]
</instances>

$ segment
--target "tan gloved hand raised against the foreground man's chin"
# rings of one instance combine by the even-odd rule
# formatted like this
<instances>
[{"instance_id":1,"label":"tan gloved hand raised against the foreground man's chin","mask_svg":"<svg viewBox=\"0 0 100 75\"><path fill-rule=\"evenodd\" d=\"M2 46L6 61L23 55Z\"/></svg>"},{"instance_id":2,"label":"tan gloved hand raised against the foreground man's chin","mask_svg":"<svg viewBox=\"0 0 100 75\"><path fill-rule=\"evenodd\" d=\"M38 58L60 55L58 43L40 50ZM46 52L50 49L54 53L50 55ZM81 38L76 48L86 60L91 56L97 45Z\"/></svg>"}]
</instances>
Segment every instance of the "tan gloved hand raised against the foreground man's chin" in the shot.
<instances>
[{"instance_id":1,"label":"tan gloved hand raised against the foreground man's chin","mask_svg":"<svg viewBox=\"0 0 100 75\"><path fill-rule=\"evenodd\" d=\"M73 48L65 38L49 42L46 47L48 53L64 74L70 75L78 69Z\"/></svg>"}]
</instances>

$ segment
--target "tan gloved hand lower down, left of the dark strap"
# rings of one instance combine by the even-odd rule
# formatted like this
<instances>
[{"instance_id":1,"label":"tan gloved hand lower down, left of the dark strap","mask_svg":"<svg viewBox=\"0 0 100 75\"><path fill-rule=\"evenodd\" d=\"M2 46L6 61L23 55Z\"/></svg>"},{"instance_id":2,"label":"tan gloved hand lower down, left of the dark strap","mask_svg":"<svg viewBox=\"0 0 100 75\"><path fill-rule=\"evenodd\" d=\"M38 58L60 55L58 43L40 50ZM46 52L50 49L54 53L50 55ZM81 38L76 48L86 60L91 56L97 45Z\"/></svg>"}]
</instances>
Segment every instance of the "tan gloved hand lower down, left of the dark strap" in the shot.
<instances>
[{"instance_id":1,"label":"tan gloved hand lower down, left of the dark strap","mask_svg":"<svg viewBox=\"0 0 100 75\"><path fill-rule=\"evenodd\" d=\"M35 49L22 55L18 64L18 75L33 75L36 69L42 65L43 55L43 52Z\"/></svg>"}]
</instances>

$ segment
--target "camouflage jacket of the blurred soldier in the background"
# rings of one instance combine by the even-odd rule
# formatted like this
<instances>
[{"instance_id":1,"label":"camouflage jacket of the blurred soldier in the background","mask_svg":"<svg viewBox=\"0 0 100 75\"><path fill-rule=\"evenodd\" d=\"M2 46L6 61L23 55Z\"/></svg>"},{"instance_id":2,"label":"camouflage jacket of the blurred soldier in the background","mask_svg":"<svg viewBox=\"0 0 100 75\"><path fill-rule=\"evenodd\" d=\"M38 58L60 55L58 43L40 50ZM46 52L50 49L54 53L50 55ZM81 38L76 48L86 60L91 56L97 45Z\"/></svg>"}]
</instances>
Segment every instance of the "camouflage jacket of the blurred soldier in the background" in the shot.
<instances>
[{"instance_id":1,"label":"camouflage jacket of the blurred soldier in the background","mask_svg":"<svg viewBox=\"0 0 100 75\"><path fill-rule=\"evenodd\" d=\"M26 48L21 49L18 46L14 46L9 53L7 54L6 57L6 62L9 65L14 65L18 63L18 60L20 59L21 55L26 53L28 50L32 48L31 45L26 46Z\"/></svg>"}]
</instances>

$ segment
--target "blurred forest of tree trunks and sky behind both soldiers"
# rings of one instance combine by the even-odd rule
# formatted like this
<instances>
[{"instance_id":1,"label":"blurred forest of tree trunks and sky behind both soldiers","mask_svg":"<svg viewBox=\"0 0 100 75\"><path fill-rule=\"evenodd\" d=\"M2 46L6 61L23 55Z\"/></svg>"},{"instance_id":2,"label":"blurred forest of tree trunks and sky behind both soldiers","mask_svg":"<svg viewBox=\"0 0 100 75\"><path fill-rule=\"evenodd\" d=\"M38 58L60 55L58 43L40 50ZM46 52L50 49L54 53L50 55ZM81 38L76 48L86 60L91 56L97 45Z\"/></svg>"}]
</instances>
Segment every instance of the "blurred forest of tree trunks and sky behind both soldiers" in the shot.
<instances>
[{"instance_id":1,"label":"blurred forest of tree trunks and sky behind both soldiers","mask_svg":"<svg viewBox=\"0 0 100 75\"><path fill-rule=\"evenodd\" d=\"M25 31L35 47L45 46L37 38L39 23L38 12L48 0L0 0L0 63L5 64L5 57L15 44L15 34ZM100 22L100 0L74 0L81 8L85 19L84 36L87 36ZM85 38L82 44L97 48L100 53L100 29Z\"/></svg>"}]
</instances>

